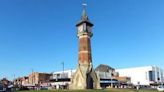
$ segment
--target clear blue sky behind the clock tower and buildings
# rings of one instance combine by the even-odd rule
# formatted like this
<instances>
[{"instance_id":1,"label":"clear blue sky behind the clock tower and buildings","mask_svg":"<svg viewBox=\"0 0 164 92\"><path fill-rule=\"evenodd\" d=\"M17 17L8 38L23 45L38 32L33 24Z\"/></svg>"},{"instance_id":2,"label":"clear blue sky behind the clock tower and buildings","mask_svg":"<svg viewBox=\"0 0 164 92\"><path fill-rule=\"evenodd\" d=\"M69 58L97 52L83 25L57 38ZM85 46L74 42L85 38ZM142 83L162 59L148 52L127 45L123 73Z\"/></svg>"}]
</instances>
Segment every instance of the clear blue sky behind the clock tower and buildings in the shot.
<instances>
[{"instance_id":1,"label":"clear blue sky behind the clock tower and buildings","mask_svg":"<svg viewBox=\"0 0 164 92\"><path fill-rule=\"evenodd\" d=\"M87 0L94 67L164 66L164 0ZM0 0L0 78L77 66L82 0Z\"/></svg>"}]
</instances>

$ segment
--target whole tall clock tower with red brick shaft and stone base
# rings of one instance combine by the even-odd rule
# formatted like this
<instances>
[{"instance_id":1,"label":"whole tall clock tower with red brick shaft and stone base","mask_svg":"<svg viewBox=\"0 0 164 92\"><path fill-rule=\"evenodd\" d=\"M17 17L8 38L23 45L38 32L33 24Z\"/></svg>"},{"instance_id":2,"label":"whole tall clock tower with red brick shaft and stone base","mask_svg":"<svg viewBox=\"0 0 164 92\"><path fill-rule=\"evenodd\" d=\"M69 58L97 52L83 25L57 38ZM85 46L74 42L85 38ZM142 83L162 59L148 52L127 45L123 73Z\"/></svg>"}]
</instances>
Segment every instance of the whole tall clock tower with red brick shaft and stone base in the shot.
<instances>
[{"instance_id":1,"label":"whole tall clock tower with red brick shaft and stone base","mask_svg":"<svg viewBox=\"0 0 164 92\"><path fill-rule=\"evenodd\" d=\"M83 4L81 20L76 24L79 39L78 67L72 76L70 89L100 89L100 79L92 64L91 37L93 24L86 14Z\"/></svg>"}]
</instances>

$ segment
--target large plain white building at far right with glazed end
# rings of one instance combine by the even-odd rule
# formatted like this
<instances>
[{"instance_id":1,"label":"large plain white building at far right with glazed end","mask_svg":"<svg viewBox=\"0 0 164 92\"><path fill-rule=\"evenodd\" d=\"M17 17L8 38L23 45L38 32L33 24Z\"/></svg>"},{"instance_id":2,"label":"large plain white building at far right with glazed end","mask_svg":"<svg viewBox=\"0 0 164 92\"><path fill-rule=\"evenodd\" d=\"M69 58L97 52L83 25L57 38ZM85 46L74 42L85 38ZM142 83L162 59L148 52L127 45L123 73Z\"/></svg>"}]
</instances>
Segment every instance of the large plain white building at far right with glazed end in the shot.
<instances>
[{"instance_id":1,"label":"large plain white building at far right with glazed end","mask_svg":"<svg viewBox=\"0 0 164 92\"><path fill-rule=\"evenodd\" d=\"M151 85L163 83L163 70L157 66L116 69L119 76L131 78L134 85Z\"/></svg>"}]
</instances>

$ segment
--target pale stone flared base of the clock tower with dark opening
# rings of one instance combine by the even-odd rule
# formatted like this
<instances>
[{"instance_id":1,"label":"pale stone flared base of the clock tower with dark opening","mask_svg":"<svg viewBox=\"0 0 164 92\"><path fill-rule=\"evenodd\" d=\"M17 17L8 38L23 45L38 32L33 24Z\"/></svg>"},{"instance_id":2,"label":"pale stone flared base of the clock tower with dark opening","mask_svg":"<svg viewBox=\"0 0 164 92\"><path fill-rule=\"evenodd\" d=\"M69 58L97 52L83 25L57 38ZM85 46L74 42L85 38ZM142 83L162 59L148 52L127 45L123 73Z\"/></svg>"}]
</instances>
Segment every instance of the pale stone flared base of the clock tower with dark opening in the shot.
<instances>
[{"instance_id":1,"label":"pale stone flared base of the clock tower with dark opening","mask_svg":"<svg viewBox=\"0 0 164 92\"><path fill-rule=\"evenodd\" d=\"M100 79L92 66L79 65L71 79L70 89L101 89Z\"/></svg>"}]
</instances>

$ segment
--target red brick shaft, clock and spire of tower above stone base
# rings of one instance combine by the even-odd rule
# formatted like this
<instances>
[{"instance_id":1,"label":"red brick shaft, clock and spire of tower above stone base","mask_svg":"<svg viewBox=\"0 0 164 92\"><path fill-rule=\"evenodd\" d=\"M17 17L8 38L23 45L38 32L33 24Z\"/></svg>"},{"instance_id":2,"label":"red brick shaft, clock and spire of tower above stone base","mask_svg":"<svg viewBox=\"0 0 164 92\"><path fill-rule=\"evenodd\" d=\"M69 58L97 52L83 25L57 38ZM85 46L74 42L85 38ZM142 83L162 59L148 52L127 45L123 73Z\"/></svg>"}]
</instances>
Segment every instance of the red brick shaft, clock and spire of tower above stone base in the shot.
<instances>
[{"instance_id":1,"label":"red brick shaft, clock and spire of tower above stone base","mask_svg":"<svg viewBox=\"0 0 164 92\"><path fill-rule=\"evenodd\" d=\"M80 65L92 63L91 55L91 37L93 24L89 21L88 16L86 15L85 8L80 22L76 25L78 29L78 38L79 38L79 57L78 61Z\"/></svg>"}]
</instances>

